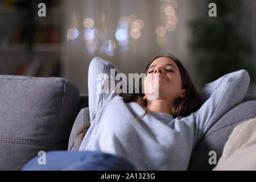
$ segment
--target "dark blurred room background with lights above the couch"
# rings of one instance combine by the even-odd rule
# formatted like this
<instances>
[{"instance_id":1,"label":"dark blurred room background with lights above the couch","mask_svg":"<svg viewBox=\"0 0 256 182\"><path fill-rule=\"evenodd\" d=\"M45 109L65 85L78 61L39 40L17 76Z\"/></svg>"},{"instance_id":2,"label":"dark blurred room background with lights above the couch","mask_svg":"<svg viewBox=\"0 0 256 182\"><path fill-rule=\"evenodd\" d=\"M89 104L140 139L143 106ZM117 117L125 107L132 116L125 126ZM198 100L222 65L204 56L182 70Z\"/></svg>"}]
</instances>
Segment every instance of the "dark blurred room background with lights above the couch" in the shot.
<instances>
[{"instance_id":1,"label":"dark blurred room background with lights above the couch","mask_svg":"<svg viewBox=\"0 0 256 182\"><path fill-rule=\"evenodd\" d=\"M46 16L38 15L40 2ZM95 56L128 74L173 53L198 90L246 69L255 94L255 10L254 0L1 0L0 74L64 77L86 94Z\"/></svg>"}]
</instances>

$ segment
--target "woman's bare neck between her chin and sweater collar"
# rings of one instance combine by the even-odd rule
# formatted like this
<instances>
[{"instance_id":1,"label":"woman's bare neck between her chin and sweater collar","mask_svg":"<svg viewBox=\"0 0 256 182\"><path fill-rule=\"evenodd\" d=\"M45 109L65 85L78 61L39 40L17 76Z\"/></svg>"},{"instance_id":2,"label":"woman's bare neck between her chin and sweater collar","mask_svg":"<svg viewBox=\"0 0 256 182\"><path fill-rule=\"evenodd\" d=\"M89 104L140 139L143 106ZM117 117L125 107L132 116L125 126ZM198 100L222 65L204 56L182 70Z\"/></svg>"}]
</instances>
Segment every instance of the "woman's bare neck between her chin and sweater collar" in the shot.
<instances>
[{"instance_id":1,"label":"woman's bare neck between her chin and sweater collar","mask_svg":"<svg viewBox=\"0 0 256 182\"><path fill-rule=\"evenodd\" d=\"M147 102L147 109L153 113L171 113L170 101L166 100L151 100Z\"/></svg>"}]
</instances>

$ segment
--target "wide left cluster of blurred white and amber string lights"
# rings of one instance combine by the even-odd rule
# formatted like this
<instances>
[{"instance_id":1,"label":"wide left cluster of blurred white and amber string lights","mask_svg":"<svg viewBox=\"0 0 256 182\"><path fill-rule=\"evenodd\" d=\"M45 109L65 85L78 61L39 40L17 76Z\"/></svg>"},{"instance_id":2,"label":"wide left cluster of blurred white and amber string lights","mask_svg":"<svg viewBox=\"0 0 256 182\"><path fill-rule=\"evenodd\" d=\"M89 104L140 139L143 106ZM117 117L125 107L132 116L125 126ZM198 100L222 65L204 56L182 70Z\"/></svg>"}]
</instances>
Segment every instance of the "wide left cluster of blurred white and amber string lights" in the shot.
<instances>
[{"instance_id":1,"label":"wide left cluster of blurred white and amber string lights","mask_svg":"<svg viewBox=\"0 0 256 182\"><path fill-rule=\"evenodd\" d=\"M100 15L101 27L94 27L95 21L91 17L86 17L82 21L82 29L79 31L79 21L77 14L71 14L71 27L67 31L67 41L79 38L85 42L86 49L90 54L94 54L96 50L101 53L107 53L109 56L114 56L115 49L119 48L121 51L128 51L130 38L141 38L141 30L144 28L142 19L138 19L137 15L130 14L129 16L121 16L117 23L117 28L114 32L114 39L108 38L108 32L105 26L106 16L104 13ZM81 27L81 26L80 26Z\"/></svg>"}]
</instances>

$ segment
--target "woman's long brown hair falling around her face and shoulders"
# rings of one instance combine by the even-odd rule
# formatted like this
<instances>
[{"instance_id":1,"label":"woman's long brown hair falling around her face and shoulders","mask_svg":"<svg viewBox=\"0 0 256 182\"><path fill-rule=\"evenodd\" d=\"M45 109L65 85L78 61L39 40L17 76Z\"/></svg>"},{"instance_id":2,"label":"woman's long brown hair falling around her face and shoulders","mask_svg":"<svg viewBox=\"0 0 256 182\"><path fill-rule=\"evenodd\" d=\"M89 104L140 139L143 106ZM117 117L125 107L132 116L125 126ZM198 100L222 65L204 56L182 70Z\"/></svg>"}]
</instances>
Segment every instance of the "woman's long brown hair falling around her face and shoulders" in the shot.
<instances>
[{"instance_id":1,"label":"woman's long brown hair falling around her face and shoulders","mask_svg":"<svg viewBox=\"0 0 256 182\"><path fill-rule=\"evenodd\" d=\"M177 97L172 101L172 104L170 105L170 110L172 112L172 115L174 118L178 116L186 117L187 115L193 113L194 111L198 110L201 105L203 104L201 101L200 93L197 93L197 90L195 86L192 83L192 80L190 76L188 75L187 70L183 66L183 64L172 54L168 55L159 55L155 56L150 63L147 64L146 69L144 70L144 73L147 75L148 68L150 67L151 63L158 59L159 57L168 57L171 60L174 60L177 67L179 68L180 75L181 75L181 88L186 89L186 94L183 98ZM144 114L135 117L137 119L141 119L148 113L147 109L147 100L143 100L144 93L142 93L142 78L139 80L139 93L131 93L131 94L121 94L123 97L123 101L125 103L128 102L136 102L139 104L143 109L145 110ZM77 131L77 134L80 134L80 140L84 138L84 135L86 134L86 131L89 129L89 125L86 125L82 127L79 131Z\"/></svg>"}]
</instances>

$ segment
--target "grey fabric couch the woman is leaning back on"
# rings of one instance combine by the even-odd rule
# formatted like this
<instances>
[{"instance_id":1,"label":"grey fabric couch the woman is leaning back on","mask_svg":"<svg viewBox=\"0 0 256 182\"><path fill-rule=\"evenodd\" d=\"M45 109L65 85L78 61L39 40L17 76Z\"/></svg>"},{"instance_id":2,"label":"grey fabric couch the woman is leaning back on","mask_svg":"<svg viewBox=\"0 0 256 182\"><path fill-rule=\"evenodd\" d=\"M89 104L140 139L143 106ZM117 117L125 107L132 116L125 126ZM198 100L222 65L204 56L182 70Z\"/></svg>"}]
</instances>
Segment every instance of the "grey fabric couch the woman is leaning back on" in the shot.
<instances>
[{"instance_id":1,"label":"grey fabric couch the woman is leaning back on","mask_svg":"<svg viewBox=\"0 0 256 182\"><path fill-rule=\"evenodd\" d=\"M256 116L256 95L245 99L205 134L188 170L210 170L233 128ZM0 75L0 170L20 170L39 151L78 150L77 130L89 122L88 96L64 78Z\"/></svg>"}]
</instances>

